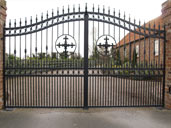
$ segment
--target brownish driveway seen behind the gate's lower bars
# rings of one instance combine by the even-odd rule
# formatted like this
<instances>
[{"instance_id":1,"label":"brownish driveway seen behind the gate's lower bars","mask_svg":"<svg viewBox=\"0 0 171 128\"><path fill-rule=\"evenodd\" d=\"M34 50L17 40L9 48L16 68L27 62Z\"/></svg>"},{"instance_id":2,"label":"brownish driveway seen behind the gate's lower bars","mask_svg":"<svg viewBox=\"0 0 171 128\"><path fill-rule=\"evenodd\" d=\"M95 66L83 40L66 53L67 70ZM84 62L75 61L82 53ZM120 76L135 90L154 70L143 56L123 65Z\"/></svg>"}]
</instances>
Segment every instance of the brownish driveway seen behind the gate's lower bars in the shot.
<instances>
[{"instance_id":1,"label":"brownish driveway seen behind the gate's lower bars","mask_svg":"<svg viewBox=\"0 0 171 128\"><path fill-rule=\"evenodd\" d=\"M12 77L6 81L7 106L82 107L84 104L83 70L59 70L44 73L63 77ZM74 72L74 73L73 73ZM100 72L100 71L99 71ZM78 76L70 76L70 75ZM162 81L133 80L99 76L89 71L89 106L162 105ZM66 76L65 76L66 75Z\"/></svg>"}]
</instances>

